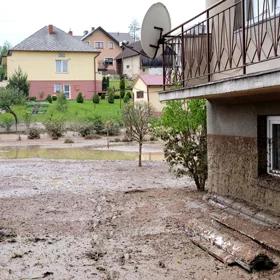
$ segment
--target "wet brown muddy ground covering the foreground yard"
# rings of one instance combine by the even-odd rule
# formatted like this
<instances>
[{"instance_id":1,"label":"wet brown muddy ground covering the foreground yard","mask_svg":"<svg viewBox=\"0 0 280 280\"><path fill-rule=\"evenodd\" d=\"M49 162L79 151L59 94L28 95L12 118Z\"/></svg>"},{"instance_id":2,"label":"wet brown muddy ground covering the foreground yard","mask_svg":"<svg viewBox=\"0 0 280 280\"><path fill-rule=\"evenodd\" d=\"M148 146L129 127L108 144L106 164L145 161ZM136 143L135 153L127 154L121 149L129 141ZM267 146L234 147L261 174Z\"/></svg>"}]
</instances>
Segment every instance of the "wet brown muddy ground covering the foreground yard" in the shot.
<instances>
[{"instance_id":1,"label":"wet brown muddy ground covering the foreground yard","mask_svg":"<svg viewBox=\"0 0 280 280\"><path fill-rule=\"evenodd\" d=\"M0 160L0 279L280 279L188 239L213 209L163 162Z\"/></svg>"}]
</instances>

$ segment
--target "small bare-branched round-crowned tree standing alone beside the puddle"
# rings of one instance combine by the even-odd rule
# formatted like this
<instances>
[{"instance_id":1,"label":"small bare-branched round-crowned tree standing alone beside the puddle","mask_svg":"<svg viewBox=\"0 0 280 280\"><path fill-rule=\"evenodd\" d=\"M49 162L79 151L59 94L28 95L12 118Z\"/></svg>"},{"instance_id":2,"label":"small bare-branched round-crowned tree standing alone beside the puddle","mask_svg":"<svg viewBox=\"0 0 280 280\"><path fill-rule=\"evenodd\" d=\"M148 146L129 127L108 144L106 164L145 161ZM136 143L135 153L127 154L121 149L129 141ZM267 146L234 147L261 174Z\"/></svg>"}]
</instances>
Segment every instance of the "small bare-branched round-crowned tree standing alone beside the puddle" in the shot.
<instances>
[{"instance_id":1,"label":"small bare-branched round-crowned tree standing alone beside the puddle","mask_svg":"<svg viewBox=\"0 0 280 280\"><path fill-rule=\"evenodd\" d=\"M139 144L138 166L142 166L142 145L149 131L149 121L152 116L151 107L147 103L128 103L123 110L123 122L130 138Z\"/></svg>"}]
</instances>

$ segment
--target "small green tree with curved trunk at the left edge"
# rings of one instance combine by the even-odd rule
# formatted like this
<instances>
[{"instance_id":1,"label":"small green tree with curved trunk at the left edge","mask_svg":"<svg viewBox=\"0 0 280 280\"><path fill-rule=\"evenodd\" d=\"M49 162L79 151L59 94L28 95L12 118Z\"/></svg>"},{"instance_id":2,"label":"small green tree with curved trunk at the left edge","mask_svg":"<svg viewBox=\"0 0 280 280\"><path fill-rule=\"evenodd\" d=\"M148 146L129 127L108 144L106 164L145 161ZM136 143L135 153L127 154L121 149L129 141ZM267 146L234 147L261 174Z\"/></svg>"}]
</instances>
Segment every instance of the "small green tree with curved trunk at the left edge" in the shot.
<instances>
[{"instance_id":1,"label":"small green tree with curved trunk at the left edge","mask_svg":"<svg viewBox=\"0 0 280 280\"><path fill-rule=\"evenodd\" d=\"M20 91L12 88L0 88L0 109L10 113L15 119L16 132L18 126L18 117L13 110L13 105L24 104L25 97Z\"/></svg>"}]
</instances>

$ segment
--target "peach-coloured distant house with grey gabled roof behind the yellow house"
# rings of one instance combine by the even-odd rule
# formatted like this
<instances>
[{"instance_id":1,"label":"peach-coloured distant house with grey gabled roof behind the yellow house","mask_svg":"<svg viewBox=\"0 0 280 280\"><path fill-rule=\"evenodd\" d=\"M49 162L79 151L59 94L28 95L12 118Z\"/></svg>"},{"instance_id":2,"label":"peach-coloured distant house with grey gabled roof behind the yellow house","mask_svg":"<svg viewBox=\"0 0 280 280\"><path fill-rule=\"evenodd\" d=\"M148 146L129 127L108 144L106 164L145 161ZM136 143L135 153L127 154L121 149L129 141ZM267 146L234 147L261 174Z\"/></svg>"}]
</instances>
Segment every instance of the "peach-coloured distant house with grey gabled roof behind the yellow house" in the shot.
<instances>
[{"instance_id":1,"label":"peach-coloured distant house with grey gabled roof behind the yellow house","mask_svg":"<svg viewBox=\"0 0 280 280\"><path fill-rule=\"evenodd\" d=\"M98 49L98 70L116 74L117 66L115 58L121 52L120 42L132 41L129 33L107 32L102 27L92 28L90 32L85 31L81 40Z\"/></svg>"}]
</instances>

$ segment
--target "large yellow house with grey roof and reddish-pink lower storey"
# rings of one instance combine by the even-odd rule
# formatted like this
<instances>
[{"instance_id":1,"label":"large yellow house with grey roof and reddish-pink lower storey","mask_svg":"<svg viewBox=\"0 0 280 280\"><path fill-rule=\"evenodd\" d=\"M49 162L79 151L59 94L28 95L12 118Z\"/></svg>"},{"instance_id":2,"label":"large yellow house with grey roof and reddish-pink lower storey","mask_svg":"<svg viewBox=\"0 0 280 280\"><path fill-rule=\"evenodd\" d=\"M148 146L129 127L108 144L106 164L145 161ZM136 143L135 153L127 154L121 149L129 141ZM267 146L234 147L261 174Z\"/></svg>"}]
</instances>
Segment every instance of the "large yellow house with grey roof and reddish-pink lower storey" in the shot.
<instances>
[{"instance_id":1,"label":"large yellow house with grey roof and reddish-pink lower storey","mask_svg":"<svg viewBox=\"0 0 280 280\"><path fill-rule=\"evenodd\" d=\"M45 26L9 51L8 78L18 69L27 74L29 96L45 99L63 92L86 99L101 91L96 57L99 51L53 25Z\"/></svg>"}]
</instances>

